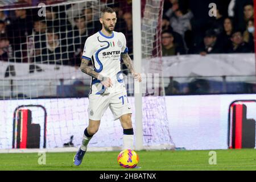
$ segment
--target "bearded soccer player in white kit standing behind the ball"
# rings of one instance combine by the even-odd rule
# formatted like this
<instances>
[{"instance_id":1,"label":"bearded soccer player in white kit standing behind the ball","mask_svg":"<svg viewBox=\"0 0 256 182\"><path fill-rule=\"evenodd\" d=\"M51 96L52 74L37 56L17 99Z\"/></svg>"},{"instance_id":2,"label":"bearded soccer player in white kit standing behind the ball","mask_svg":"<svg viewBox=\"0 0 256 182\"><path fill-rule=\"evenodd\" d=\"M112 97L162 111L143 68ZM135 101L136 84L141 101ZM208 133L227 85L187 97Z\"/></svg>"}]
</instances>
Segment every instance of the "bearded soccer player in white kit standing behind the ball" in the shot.
<instances>
[{"instance_id":1,"label":"bearded soccer player in white kit standing behind the ball","mask_svg":"<svg viewBox=\"0 0 256 182\"><path fill-rule=\"evenodd\" d=\"M87 150L87 145L100 126L101 117L108 107L115 120L119 119L123 127L123 148L133 148L133 123L131 107L121 73L120 59L135 80L141 82L141 74L136 73L128 55L126 38L121 32L115 32L117 15L110 7L101 12L101 31L86 39L81 60L81 71L92 77L89 94L89 125L84 130L82 144L74 157L79 166ZM92 61L93 69L88 66Z\"/></svg>"}]
</instances>

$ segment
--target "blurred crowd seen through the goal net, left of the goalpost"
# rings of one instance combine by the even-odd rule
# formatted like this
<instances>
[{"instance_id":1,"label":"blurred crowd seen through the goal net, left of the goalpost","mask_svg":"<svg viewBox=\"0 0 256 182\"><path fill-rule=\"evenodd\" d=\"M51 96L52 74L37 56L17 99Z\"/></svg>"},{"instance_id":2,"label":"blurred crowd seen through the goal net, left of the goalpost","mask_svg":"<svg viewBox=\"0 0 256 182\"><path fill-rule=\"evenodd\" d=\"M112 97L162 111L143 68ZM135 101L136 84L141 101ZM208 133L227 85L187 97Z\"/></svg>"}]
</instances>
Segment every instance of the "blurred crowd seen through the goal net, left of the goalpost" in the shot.
<instances>
[{"instance_id":1,"label":"blurred crowd seen through the goal net, left of the goalpost","mask_svg":"<svg viewBox=\"0 0 256 182\"><path fill-rule=\"evenodd\" d=\"M15 10L0 10L0 60L80 66L85 40L101 30L98 7L90 3L47 6L45 16L38 15L39 9L19 8L34 3L21 0ZM115 31L132 40L132 16L121 5L111 6L118 14ZM127 41L127 47L133 52L132 41Z\"/></svg>"}]
</instances>

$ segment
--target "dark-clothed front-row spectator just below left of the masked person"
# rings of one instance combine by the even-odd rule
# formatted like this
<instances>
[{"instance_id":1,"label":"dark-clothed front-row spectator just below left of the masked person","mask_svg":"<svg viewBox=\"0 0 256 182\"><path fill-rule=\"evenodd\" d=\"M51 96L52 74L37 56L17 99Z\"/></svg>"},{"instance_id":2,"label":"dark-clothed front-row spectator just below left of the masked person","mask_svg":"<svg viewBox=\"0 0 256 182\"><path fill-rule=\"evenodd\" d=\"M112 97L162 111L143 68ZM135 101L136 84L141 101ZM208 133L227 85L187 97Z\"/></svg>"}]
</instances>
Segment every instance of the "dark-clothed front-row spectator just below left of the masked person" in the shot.
<instances>
[{"instance_id":1,"label":"dark-clothed front-row spectator just below left of the masked person","mask_svg":"<svg viewBox=\"0 0 256 182\"><path fill-rule=\"evenodd\" d=\"M251 52L249 45L243 41L242 31L233 31L231 37L232 44L227 53L249 53Z\"/></svg>"}]
</instances>

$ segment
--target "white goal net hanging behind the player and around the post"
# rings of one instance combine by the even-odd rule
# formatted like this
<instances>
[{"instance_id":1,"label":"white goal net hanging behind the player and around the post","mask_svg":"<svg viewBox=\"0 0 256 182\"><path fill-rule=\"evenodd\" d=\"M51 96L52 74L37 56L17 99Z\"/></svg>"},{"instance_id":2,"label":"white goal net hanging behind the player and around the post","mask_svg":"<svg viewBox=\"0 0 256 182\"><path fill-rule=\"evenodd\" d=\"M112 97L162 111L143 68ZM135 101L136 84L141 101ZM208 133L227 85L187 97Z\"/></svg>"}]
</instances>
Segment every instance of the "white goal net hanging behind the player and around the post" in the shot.
<instances>
[{"instance_id":1,"label":"white goal net hanging behind the player and around the post","mask_svg":"<svg viewBox=\"0 0 256 182\"><path fill-rule=\"evenodd\" d=\"M105 6L117 12L115 31L126 35L133 58L131 1L47 2L40 6L22 1L0 4L5 26L0 34L0 149L75 147L75 151L80 146L88 125L91 84L79 69L81 54L86 38L100 30L98 19ZM158 79L147 75L158 94L148 90L143 94L143 145L156 149L174 147L161 89L162 10L163 0L142 1L143 72L158 74ZM123 64L122 71L129 73ZM134 105L132 88L127 84L129 102ZM108 109L89 143L90 150L119 150L122 132Z\"/></svg>"}]
</instances>

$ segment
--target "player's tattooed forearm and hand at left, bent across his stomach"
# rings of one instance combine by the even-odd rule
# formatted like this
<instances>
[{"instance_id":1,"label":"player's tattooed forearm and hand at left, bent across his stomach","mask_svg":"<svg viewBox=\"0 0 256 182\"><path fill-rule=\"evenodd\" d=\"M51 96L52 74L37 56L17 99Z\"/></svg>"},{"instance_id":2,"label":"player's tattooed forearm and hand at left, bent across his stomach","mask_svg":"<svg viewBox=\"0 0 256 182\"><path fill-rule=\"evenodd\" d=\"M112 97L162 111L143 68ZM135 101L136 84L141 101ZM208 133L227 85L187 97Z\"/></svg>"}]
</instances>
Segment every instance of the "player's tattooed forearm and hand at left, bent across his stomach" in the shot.
<instances>
[{"instance_id":1,"label":"player's tattooed forearm and hand at left, bent across his stomach","mask_svg":"<svg viewBox=\"0 0 256 182\"><path fill-rule=\"evenodd\" d=\"M82 59L80 69L83 73L92 76L94 78L97 78L98 80L101 81L101 84L109 87L112 86L112 80L109 77L104 77L100 73L97 73L96 71L93 71L92 68L89 67L89 60Z\"/></svg>"}]
</instances>

